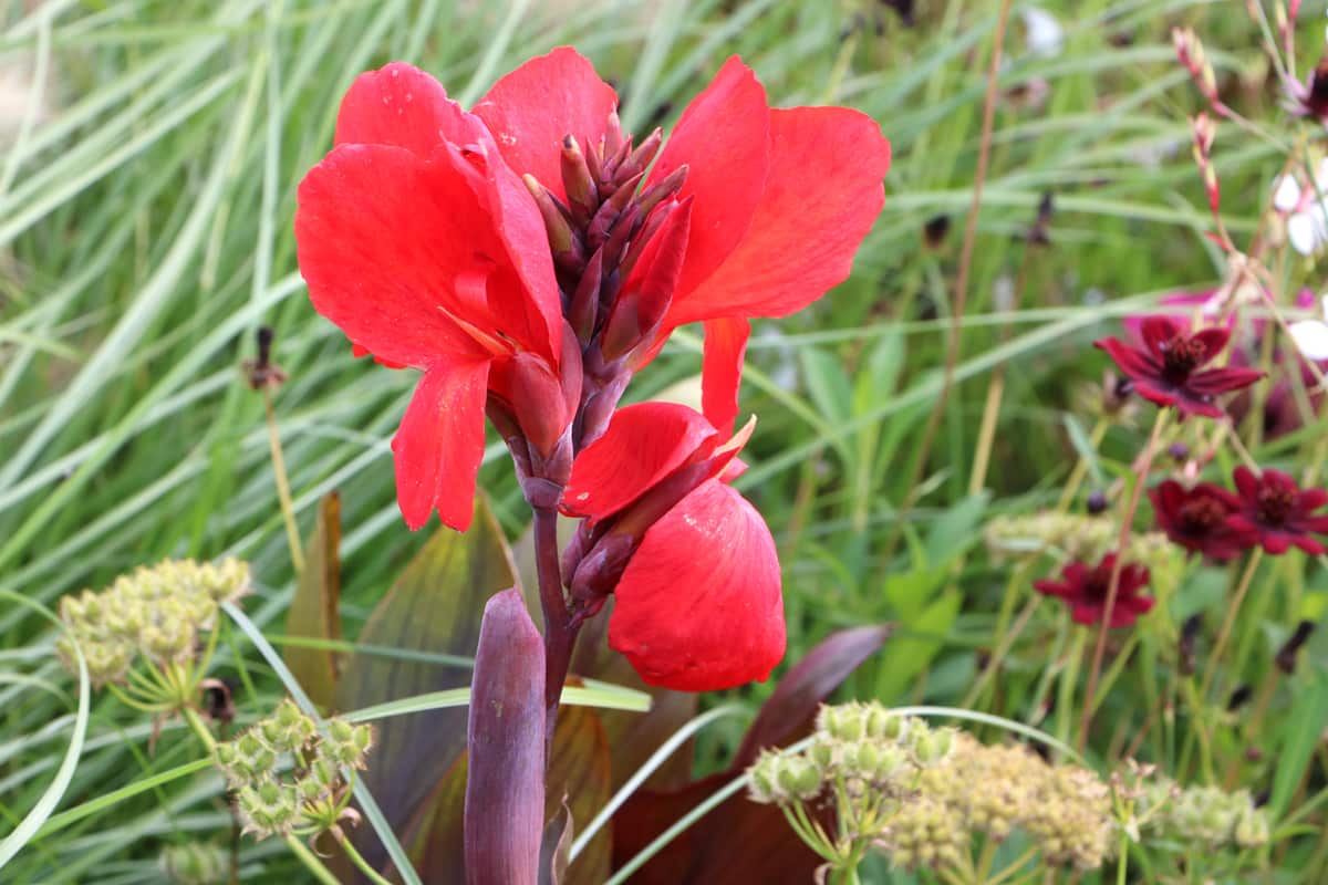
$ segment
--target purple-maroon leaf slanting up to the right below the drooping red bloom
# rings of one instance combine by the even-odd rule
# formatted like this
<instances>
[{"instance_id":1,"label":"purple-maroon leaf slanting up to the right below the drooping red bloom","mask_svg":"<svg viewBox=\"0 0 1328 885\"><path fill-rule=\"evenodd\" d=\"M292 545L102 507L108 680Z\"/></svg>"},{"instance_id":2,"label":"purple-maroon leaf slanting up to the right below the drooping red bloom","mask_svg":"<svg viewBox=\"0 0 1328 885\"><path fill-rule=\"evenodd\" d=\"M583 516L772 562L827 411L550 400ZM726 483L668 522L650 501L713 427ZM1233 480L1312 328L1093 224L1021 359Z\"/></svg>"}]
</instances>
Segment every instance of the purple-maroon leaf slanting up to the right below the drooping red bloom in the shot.
<instances>
[{"instance_id":1,"label":"purple-maroon leaf slanting up to the right below the drooping red bloom","mask_svg":"<svg viewBox=\"0 0 1328 885\"><path fill-rule=\"evenodd\" d=\"M839 630L807 651L761 706L729 771L746 768L765 747L790 743L807 731L821 703L884 645L891 630L888 624Z\"/></svg>"}]
</instances>

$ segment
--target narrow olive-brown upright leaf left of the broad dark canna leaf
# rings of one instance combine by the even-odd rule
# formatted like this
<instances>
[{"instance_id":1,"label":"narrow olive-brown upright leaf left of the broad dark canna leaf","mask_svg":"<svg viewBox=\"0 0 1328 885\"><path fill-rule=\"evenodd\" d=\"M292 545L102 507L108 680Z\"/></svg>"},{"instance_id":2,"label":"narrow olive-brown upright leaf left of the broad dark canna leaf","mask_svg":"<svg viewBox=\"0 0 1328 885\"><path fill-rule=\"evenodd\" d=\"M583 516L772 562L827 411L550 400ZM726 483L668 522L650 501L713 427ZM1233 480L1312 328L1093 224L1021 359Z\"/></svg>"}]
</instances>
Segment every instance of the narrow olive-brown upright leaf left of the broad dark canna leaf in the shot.
<instances>
[{"instance_id":1,"label":"narrow olive-brown upright leaf left of the broad dark canna leaf","mask_svg":"<svg viewBox=\"0 0 1328 885\"><path fill-rule=\"evenodd\" d=\"M304 548L304 572L286 616L290 636L340 640L341 614L341 496L328 492L319 506L319 521ZM309 699L328 710L336 702L337 659L328 649L286 646L282 654Z\"/></svg>"}]
</instances>

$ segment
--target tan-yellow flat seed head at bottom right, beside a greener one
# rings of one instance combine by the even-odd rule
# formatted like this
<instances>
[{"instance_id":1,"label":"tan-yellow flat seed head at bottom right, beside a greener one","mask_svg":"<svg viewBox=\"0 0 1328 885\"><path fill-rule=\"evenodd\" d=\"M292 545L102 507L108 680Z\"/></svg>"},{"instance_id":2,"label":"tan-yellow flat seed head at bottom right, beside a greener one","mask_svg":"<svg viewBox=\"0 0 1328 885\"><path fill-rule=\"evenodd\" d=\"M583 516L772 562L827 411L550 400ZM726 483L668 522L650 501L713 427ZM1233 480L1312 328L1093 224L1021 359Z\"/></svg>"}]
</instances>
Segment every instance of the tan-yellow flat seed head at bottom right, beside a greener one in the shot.
<instances>
[{"instance_id":1,"label":"tan-yellow flat seed head at bottom right, beside a greener one","mask_svg":"<svg viewBox=\"0 0 1328 885\"><path fill-rule=\"evenodd\" d=\"M1023 746L985 746L960 734L940 764L922 774L884 839L899 866L955 866L972 837L1023 831L1050 864L1097 869L1117 832L1112 791L1096 774L1053 766Z\"/></svg>"}]
</instances>

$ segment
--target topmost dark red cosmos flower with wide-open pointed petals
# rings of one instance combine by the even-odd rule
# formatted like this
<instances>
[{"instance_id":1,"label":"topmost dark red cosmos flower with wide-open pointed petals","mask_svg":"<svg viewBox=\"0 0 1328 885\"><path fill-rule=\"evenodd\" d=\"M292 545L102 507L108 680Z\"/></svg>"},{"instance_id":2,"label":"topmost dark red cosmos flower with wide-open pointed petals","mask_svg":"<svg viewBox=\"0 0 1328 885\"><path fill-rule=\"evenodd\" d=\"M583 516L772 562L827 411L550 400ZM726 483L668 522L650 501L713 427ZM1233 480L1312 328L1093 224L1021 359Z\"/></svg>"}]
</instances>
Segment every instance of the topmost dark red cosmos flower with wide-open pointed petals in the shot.
<instances>
[{"instance_id":1,"label":"topmost dark red cosmos flower with wide-open pointed petals","mask_svg":"<svg viewBox=\"0 0 1328 885\"><path fill-rule=\"evenodd\" d=\"M1224 413L1212 402L1214 397L1247 387L1263 377L1255 369L1203 369L1227 345L1230 329L1190 333L1170 317L1149 317L1139 332L1142 346L1120 338L1102 338L1093 344L1112 354L1141 397L1159 406L1220 418Z\"/></svg>"}]
</instances>

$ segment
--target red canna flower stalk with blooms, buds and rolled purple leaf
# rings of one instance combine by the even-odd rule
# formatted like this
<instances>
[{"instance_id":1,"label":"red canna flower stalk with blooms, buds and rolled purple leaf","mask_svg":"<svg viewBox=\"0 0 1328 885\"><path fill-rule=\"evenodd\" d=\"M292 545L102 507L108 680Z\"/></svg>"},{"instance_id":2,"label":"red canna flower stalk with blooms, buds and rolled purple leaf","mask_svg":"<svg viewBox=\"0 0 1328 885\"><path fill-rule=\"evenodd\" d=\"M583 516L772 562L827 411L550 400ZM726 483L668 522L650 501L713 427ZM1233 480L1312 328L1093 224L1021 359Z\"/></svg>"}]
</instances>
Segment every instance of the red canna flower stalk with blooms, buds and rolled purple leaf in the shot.
<instances>
[{"instance_id":1,"label":"red canna flower stalk with blooms, buds and rolled purple leaf","mask_svg":"<svg viewBox=\"0 0 1328 885\"><path fill-rule=\"evenodd\" d=\"M481 629L473 882L538 876L544 754L578 633L611 597L608 642L651 685L733 687L784 657L774 541L729 484L753 431L733 430L749 320L846 279L884 199L890 145L874 121L772 109L736 57L667 139L633 143L616 107L568 48L469 111L390 64L351 86L332 151L299 187L313 306L357 356L421 373L392 443L406 524L437 512L469 527L486 417L534 515L543 633L505 594ZM705 329L703 410L619 409L692 322ZM580 520L566 549L559 513Z\"/></svg>"}]
</instances>

